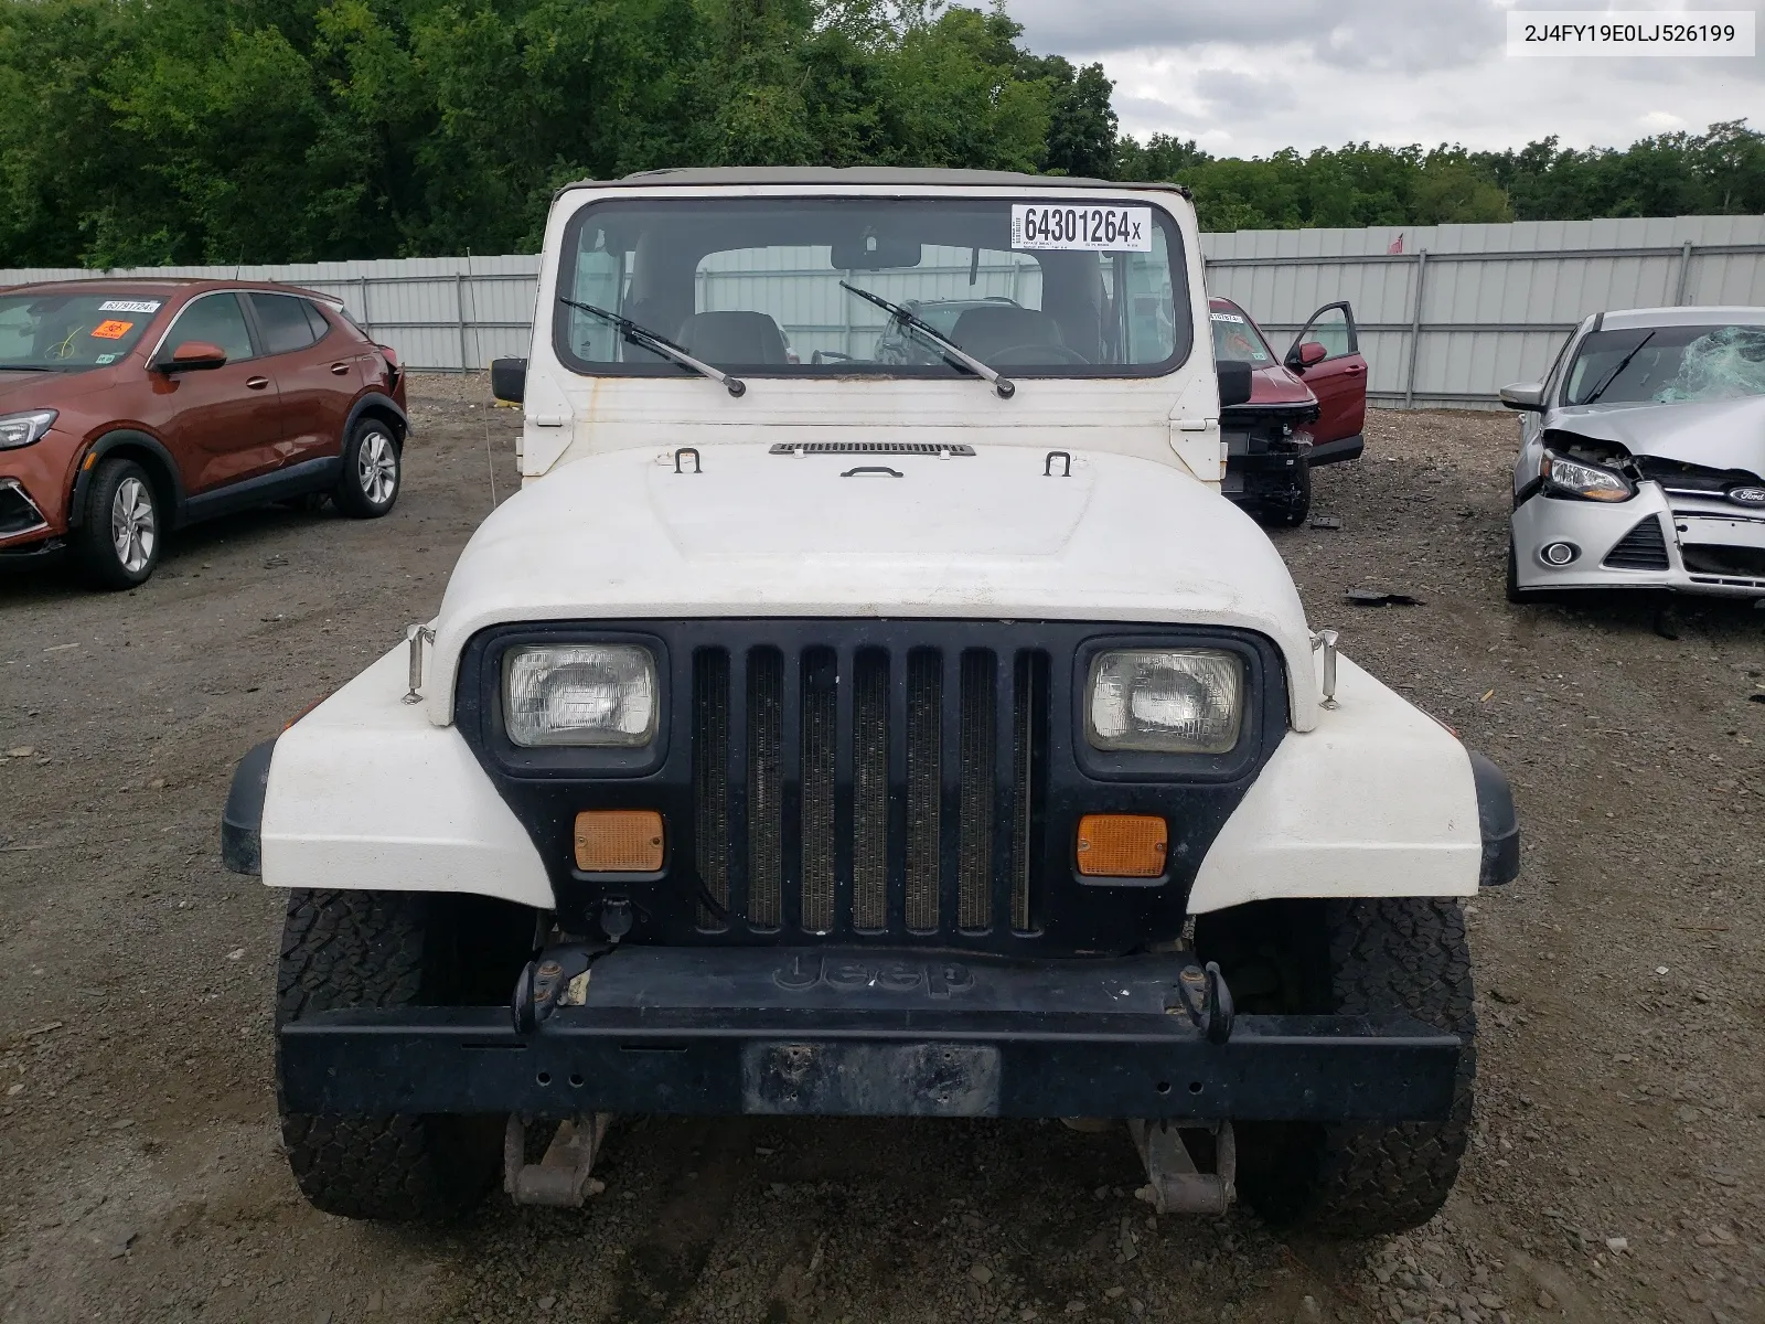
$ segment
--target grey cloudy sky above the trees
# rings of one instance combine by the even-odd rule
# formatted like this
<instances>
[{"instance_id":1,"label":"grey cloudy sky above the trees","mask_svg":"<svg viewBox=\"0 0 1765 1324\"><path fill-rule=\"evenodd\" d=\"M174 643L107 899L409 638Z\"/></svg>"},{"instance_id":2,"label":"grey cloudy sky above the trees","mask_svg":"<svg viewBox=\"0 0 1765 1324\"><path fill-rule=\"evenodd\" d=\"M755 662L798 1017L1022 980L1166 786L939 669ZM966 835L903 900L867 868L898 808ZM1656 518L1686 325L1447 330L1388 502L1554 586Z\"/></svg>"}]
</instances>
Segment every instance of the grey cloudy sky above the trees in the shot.
<instances>
[{"instance_id":1,"label":"grey cloudy sky above the trees","mask_svg":"<svg viewBox=\"0 0 1765 1324\"><path fill-rule=\"evenodd\" d=\"M1746 58L1509 58L1509 9L1751 9ZM1758 0L1006 0L1031 49L1115 79L1124 132L1214 155L1281 147L1624 147L1749 118L1765 129Z\"/></svg>"}]
</instances>

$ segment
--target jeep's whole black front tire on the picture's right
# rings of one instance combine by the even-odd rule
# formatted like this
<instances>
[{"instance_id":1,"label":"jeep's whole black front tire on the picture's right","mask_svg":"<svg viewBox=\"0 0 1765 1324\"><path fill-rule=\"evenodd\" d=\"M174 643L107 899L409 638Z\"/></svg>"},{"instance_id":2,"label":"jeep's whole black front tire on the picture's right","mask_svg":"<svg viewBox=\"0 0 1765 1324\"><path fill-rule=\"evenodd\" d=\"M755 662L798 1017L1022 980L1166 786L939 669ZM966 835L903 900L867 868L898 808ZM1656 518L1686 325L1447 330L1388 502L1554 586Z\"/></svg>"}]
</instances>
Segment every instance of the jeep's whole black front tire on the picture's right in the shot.
<instances>
[{"instance_id":1,"label":"jeep's whole black front tire on the picture's right","mask_svg":"<svg viewBox=\"0 0 1765 1324\"><path fill-rule=\"evenodd\" d=\"M1281 1227L1340 1237L1421 1227L1446 1204L1470 1135L1477 1017L1465 916L1447 897L1394 897L1311 902L1290 918L1283 1010L1408 1013L1463 1049L1440 1121L1239 1126L1239 1190Z\"/></svg>"}]
</instances>

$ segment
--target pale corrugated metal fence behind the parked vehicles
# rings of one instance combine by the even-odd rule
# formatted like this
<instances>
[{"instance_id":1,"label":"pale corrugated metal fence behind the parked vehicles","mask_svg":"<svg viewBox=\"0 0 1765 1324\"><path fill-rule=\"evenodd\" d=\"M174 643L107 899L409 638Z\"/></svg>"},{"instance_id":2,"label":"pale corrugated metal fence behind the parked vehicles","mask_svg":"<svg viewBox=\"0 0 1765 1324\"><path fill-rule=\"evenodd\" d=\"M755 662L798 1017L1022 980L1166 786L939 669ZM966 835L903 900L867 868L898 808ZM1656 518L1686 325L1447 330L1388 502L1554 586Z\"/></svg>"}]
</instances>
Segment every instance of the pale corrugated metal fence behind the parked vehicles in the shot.
<instances>
[{"instance_id":1,"label":"pale corrugated metal fence behind the parked vehicles","mask_svg":"<svg viewBox=\"0 0 1765 1324\"><path fill-rule=\"evenodd\" d=\"M1599 309L1765 305L1765 217L1241 229L1204 235L1202 249L1209 290L1244 305L1278 353L1313 309L1350 300L1371 365L1371 395L1398 406L1493 404L1504 383L1541 376L1562 337ZM528 351L538 258L162 267L127 274L237 274L323 290L408 365L459 371ZM94 272L25 268L0 272L0 284L79 275ZM817 316L814 325L787 325L785 334L805 344L837 334L858 350L879 325L867 309L852 309L851 318L831 327Z\"/></svg>"}]
</instances>

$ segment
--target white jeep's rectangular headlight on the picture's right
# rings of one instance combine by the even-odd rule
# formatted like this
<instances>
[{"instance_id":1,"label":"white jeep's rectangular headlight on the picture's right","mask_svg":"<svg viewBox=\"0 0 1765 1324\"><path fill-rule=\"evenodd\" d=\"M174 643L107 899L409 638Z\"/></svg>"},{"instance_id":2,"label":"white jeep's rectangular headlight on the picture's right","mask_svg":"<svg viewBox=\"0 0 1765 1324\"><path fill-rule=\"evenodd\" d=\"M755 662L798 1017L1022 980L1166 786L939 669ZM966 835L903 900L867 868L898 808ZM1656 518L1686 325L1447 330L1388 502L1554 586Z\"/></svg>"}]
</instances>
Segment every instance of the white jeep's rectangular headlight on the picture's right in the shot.
<instances>
[{"instance_id":1,"label":"white jeep's rectangular headlight on the picture's right","mask_svg":"<svg viewBox=\"0 0 1765 1324\"><path fill-rule=\"evenodd\" d=\"M1244 662L1218 648L1098 653L1085 740L1103 750L1225 754L1244 720Z\"/></svg>"}]
</instances>

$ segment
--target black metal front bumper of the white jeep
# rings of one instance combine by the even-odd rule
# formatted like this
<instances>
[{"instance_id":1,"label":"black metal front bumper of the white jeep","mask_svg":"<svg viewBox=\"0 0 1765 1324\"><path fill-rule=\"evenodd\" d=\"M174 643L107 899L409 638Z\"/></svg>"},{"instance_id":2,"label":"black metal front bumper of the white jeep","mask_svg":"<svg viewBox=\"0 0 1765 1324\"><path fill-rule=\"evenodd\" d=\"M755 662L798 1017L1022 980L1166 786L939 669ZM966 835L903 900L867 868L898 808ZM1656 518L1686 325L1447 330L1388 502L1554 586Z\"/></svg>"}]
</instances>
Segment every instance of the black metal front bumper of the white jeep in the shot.
<instances>
[{"instance_id":1,"label":"black metal front bumper of the white jeep","mask_svg":"<svg viewBox=\"0 0 1765 1324\"><path fill-rule=\"evenodd\" d=\"M1011 962L923 950L625 948L584 1006L318 1013L281 1029L286 1107L586 1112L1444 1117L1460 1040L1407 1017L1241 1015L1209 1043L1186 957Z\"/></svg>"}]
</instances>

